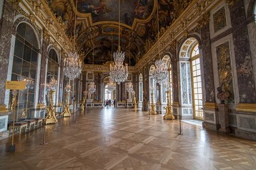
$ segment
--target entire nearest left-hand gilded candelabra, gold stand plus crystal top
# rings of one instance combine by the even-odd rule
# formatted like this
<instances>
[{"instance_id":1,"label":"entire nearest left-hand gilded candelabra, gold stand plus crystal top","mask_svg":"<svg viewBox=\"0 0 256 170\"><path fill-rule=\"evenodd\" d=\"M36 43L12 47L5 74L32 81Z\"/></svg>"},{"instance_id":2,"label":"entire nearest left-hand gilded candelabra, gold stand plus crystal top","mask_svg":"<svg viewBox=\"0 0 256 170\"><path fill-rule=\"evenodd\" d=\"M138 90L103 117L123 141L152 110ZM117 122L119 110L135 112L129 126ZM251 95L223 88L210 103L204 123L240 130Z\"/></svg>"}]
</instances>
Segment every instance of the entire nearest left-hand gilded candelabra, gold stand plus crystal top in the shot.
<instances>
[{"instance_id":1,"label":"entire nearest left-hand gilded candelabra, gold stand plus crystal top","mask_svg":"<svg viewBox=\"0 0 256 170\"><path fill-rule=\"evenodd\" d=\"M53 108L53 94L57 86L57 80L55 80L54 77L51 78L51 82L46 84L46 86L49 88L48 94L49 94L50 102L48 107L46 108L47 116L44 119L44 124L53 124L58 122L55 116L55 109Z\"/></svg>"}]
</instances>

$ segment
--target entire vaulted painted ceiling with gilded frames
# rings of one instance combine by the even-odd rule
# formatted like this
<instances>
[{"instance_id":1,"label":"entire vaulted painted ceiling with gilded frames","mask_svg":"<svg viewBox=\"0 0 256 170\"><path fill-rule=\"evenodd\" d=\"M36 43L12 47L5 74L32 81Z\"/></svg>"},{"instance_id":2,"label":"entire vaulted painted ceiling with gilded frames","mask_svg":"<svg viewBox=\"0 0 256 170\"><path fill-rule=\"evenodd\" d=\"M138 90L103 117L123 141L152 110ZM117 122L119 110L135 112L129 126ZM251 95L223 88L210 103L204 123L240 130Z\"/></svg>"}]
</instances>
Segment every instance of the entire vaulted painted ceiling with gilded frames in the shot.
<instances>
[{"instance_id":1,"label":"entire vaulted painted ceiling with gilded frames","mask_svg":"<svg viewBox=\"0 0 256 170\"><path fill-rule=\"evenodd\" d=\"M94 64L113 61L112 53L118 46L118 0L77 0L77 8L76 0L46 1L58 22L65 25L70 39L76 37L76 50L83 56L84 63L92 64L93 56ZM192 0L156 1L120 0L120 46L129 65L136 65L156 42L157 22L161 35Z\"/></svg>"}]
</instances>

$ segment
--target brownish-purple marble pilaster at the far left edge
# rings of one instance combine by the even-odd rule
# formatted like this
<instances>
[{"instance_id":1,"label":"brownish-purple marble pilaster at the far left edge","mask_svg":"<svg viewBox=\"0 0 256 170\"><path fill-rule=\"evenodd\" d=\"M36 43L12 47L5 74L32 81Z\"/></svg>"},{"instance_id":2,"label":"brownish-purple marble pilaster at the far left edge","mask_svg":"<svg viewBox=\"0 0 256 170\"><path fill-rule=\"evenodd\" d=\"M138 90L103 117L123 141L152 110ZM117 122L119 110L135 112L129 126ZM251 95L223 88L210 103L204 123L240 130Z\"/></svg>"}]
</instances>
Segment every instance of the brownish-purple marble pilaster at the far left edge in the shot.
<instances>
[{"instance_id":1,"label":"brownish-purple marble pilaster at the far left edge","mask_svg":"<svg viewBox=\"0 0 256 170\"><path fill-rule=\"evenodd\" d=\"M5 80L8 74L8 62L10 54L10 45L12 34L15 34L14 23L15 10L10 3L3 5L3 18L0 33L0 103L5 99Z\"/></svg>"}]
</instances>

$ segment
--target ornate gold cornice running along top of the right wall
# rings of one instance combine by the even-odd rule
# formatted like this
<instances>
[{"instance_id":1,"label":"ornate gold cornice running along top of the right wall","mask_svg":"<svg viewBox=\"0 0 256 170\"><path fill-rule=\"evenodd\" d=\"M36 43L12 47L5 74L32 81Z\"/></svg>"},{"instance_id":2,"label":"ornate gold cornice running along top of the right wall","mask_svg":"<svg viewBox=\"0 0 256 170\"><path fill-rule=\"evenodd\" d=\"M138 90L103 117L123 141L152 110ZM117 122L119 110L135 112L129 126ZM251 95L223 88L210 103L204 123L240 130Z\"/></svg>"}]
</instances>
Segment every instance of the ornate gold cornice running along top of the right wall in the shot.
<instances>
[{"instance_id":1,"label":"ornate gold cornice running along top of the right wall","mask_svg":"<svg viewBox=\"0 0 256 170\"><path fill-rule=\"evenodd\" d=\"M170 39L167 41L164 46L160 46L160 49L158 49L158 41L155 41L153 46L147 52L144 54L144 56L141 58L139 63L135 65L135 69L139 70L147 63L151 62L155 58L155 51L164 50L167 48L167 46L171 46L171 42L175 39L179 41L179 39L182 39L183 36L189 35L192 33L191 31L197 27L197 20L201 17L200 24L206 24L208 22L208 13L212 8L216 7L218 3L221 3L222 0L194 0L190 3L190 5L180 14L178 18L171 24L170 27L167 28L165 33L162 34L160 39L158 41L166 41L167 39ZM206 15L205 15L206 14ZM203 16L205 15L205 16ZM173 47L173 46L172 46Z\"/></svg>"}]
</instances>

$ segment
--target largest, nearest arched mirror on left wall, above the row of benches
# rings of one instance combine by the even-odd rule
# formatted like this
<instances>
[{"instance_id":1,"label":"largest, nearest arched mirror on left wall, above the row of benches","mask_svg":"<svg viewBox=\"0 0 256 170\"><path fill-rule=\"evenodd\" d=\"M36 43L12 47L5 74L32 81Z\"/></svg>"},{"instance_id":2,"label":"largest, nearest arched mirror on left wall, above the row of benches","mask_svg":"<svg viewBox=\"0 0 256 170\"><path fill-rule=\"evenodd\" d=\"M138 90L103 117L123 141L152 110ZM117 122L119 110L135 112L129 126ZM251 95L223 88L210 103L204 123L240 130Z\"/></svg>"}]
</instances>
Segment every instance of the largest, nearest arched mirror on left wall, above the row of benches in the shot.
<instances>
[{"instance_id":1,"label":"largest, nearest arched mirror on left wall, above the row of benches","mask_svg":"<svg viewBox=\"0 0 256 170\"><path fill-rule=\"evenodd\" d=\"M16 31L11 80L29 79L33 80L35 84L38 67L38 39L35 37L33 29L25 22L20 23ZM10 97L11 99L12 97ZM30 114L34 105L34 86L30 86L26 90L19 90L16 102L16 112L18 113L16 118L21 118L24 111L26 114Z\"/></svg>"}]
</instances>

